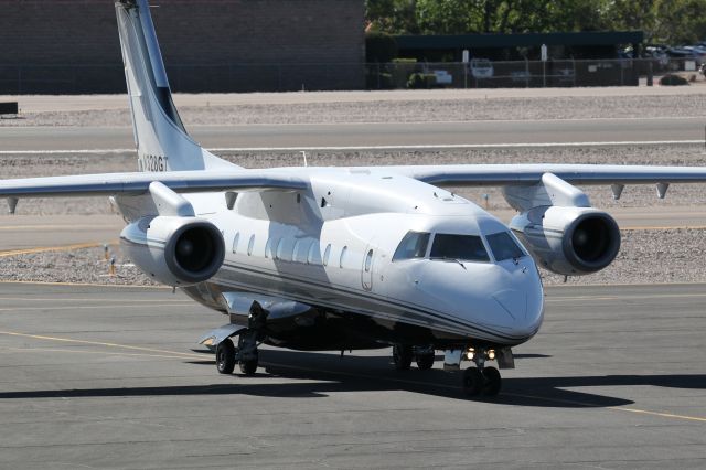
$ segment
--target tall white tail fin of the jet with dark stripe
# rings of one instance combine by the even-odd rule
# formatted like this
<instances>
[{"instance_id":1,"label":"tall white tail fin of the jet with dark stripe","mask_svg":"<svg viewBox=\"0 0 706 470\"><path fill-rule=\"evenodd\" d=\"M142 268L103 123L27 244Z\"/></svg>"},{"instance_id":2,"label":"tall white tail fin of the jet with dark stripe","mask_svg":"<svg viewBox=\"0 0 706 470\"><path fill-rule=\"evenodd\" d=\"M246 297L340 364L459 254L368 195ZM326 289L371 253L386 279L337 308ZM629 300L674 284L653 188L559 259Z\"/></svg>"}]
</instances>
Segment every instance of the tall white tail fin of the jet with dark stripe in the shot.
<instances>
[{"instance_id":1,"label":"tall white tail fin of the jet with dark stripe","mask_svg":"<svg viewBox=\"0 0 706 470\"><path fill-rule=\"evenodd\" d=\"M147 0L117 0L118 31L140 171L237 168L194 142L179 117Z\"/></svg>"}]
</instances>

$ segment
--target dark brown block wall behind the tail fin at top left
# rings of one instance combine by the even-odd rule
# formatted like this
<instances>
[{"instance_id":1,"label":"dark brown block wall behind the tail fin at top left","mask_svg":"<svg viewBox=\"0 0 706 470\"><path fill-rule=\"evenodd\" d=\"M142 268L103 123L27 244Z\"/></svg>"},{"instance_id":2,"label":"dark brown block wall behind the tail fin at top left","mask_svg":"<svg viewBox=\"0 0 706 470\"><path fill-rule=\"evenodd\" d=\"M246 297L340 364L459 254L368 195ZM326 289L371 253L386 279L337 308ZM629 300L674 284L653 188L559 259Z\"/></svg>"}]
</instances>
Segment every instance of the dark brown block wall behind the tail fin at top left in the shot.
<instances>
[{"instance_id":1,"label":"dark brown block wall behind the tail fin at top left","mask_svg":"<svg viewBox=\"0 0 706 470\"><path fill-rule=\"evenodd\" d=\"M357 89L363 0L152 0L174 90ZM110 0L0 0L0 93L124 92Z\"/></svg>"}]
</instances>

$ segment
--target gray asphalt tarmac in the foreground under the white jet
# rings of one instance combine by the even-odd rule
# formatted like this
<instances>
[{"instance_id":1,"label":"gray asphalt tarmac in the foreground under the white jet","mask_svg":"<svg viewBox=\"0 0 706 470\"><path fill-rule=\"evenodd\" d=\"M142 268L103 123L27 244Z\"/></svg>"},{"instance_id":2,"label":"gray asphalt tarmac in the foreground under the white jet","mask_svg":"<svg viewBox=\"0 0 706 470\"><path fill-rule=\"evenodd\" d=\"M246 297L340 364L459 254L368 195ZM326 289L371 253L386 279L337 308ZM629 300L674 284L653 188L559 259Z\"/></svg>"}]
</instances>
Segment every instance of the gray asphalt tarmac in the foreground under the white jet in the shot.
<instances>
[{"instance_id":1,"label":"gray asphalt tarmac in the foreground under the white jet","mask_svg":"<svg viewBox=\"0 0 706 470\"><path fill-rule=\"evenodd\" d=\"M162 289L0 285L1 468L706 466L706 286L553 288L493 402L389 351L266 349L218 375L224 321Z\"/></svg>"}]
</instances>

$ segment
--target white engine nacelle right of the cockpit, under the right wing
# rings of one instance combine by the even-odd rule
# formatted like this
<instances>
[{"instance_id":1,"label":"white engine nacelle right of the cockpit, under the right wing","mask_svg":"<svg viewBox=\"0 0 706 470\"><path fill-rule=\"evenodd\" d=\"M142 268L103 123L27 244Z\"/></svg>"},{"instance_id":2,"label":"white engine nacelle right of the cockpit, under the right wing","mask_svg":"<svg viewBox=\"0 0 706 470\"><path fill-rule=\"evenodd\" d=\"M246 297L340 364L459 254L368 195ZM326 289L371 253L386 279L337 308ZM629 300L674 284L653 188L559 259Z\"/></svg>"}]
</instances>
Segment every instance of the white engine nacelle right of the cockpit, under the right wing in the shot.
<instances>
[{"instance_id":1,"label":"white engine nacelle right of the cockpit, under the right wing","mask_svg":"<svg viewBox=\"0 0 706 470\"><path fill-rule=\"evenodd\" d=\"M534 207L516 215L510 227L539 266L565 276L603 269L620 250L618 224L592 207Z\"/></svg>"}]
</instances>

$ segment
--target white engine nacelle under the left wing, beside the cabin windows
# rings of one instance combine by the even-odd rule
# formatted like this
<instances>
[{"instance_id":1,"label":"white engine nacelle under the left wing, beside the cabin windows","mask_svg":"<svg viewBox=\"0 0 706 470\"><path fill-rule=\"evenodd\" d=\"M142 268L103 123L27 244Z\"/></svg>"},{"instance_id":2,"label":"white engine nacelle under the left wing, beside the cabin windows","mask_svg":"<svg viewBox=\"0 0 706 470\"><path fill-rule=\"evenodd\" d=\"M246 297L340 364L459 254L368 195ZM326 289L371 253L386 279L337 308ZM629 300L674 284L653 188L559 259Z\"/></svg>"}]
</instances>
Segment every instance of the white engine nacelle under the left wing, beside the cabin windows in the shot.
<instances>
[{"instance_id":1,"label":"white engine nacelle under the left wing, beside the cabin windows","mask_svg":"<svg viewBox=\"0 0 706 470\"><path fill-rule=\"evenodd\" d=\"M196 217L143 217L125 227L120 243L136 266L169 286L208 280L225 257L221 232Z\"/></svg>"}]
</instances>

